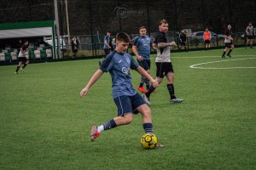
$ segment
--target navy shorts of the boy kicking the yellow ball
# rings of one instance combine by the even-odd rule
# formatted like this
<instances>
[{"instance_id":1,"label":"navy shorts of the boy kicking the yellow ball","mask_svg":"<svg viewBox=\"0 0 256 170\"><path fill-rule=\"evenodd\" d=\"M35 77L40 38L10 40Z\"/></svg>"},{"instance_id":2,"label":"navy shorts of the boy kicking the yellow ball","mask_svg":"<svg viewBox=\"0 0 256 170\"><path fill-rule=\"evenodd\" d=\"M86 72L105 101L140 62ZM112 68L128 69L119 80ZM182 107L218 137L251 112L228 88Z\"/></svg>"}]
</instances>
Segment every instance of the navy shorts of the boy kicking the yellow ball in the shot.
<instances>
[{"instance_id":1,"label":"navy shorts of the boy kicking the yellow ball","mask_svg":"<svg viewBox=\"0 0 256 170\"><path fill-rule=\"evenodd\" d=\"M135 94L133 96L119 96L113 99L113 101L118 108L118 116L124 116L128 113L137 114L137 107L146 105L140 94Z\"/></svg>"}]
</instances>

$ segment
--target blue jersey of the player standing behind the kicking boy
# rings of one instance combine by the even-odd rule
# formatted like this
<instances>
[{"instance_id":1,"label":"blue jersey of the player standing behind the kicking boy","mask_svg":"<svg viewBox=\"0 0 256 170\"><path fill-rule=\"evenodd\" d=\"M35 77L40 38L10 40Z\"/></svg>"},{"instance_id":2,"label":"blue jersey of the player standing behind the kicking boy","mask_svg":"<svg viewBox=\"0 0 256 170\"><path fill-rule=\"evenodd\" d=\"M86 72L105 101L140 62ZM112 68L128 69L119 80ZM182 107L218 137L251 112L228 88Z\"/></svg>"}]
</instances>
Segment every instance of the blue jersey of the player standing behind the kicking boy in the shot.
<instances>
[{"instance_id":1,"label":"blue jersey of the player standing behind the kicking boy","mask_svg":"<svg viewBox=\"0 0 256 170\"><path fill-rule=\"evenodd\" d=\"M150 47L152 45L150 37L136 37L134 38L133 45L137 47L137 53L143 56L143 59L150 59Z\"/></svg>"}]
</instances>

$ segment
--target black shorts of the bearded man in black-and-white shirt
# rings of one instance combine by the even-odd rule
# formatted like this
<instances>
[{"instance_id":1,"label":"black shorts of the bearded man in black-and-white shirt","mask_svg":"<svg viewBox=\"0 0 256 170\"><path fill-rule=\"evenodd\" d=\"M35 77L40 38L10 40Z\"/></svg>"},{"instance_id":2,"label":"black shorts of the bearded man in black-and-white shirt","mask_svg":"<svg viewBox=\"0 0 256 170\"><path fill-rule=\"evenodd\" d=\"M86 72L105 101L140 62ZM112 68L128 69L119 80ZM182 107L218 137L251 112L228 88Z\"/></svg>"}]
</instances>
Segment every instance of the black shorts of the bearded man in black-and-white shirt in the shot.
<instances>
[{"instance_id":1,"label":"black shorts of the bearded man in black-and-white shirt","mask_svg":"<svg viewBox=\"0 0 256 170\"><path fill-rule=\"evenodd\" d=\"M163 78L168 72L173 72L172 62L155 63L156 65L156 77Z\"/></svg>"}]
</instances>

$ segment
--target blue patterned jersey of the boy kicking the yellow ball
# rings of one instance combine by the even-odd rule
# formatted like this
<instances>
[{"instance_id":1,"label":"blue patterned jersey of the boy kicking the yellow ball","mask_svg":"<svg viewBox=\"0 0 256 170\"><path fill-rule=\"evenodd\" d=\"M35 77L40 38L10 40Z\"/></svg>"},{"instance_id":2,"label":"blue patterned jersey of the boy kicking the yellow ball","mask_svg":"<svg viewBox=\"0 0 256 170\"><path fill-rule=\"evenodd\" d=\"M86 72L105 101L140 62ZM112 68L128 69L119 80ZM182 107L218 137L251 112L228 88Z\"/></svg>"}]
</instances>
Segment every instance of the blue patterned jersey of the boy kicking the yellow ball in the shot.
<instances>
[{"instance_id":1,"label":"blue patterned jersey of the boy kicking the yellow ball","mask_svg":"<svg viewBox=\"0 0 256 170\"><path fill-rule=\"evenodd\" d=\"M106 59L102 61L100 69L103 72L109 71L112 77L113 99L119 96L137 94L137 91L132 88L130 68L135 70L138 66L131 54L119 54L116 50L108 54Z\"/></svg>"}]
</instances>

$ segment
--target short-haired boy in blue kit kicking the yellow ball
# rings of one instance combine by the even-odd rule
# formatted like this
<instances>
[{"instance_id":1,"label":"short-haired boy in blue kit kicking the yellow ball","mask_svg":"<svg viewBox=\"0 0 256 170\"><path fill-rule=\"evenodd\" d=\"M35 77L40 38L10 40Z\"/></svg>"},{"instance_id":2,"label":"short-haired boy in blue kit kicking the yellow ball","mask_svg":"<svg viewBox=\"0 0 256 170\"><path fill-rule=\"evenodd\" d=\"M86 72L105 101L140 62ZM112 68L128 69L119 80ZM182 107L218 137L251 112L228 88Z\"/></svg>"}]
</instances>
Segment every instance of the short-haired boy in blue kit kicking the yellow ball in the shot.
<instances>
[{"instance_id":1,"label":"short-haired boy in blue kit kicking the yellow ball","mask_svg":"<svg viewBox=\"0 0 256 170\"><path fill-rule=\"evenodd\" d=\"M105 130L131 123L132 113L137 114L138 112L143 116L145 133L153 133L151 110L143 98L137 94L137 91L132 88L130 69L136 70L143 77L148 78L154 88L158 86L158 82L139 66L130 54L125 53L130 41L130 37L125 32L117 34L116 49L108 54L106 59L103 59L100 68L80 92L80 97L87 94L90 87L102 76L103 72L109 71L112 77L112 94L114 103L118 108L118 116L100 126L92 126L90 131L91 141L94 141Z\"/></svg>"}]
</instances>

